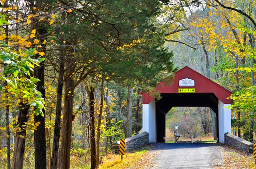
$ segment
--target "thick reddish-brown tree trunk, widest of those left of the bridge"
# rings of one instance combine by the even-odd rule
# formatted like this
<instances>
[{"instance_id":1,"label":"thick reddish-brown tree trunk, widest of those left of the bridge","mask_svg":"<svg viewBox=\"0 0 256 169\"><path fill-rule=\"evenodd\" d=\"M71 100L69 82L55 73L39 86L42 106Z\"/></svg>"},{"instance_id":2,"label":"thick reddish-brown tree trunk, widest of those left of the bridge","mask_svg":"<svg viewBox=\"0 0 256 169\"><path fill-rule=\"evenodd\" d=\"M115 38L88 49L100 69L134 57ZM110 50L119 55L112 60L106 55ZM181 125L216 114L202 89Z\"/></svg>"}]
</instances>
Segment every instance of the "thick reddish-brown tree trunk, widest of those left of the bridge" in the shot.
<instances>
[{"instance_id":1,"label":"thick reddish-brown tree trunk, widest of those left of the bridge","mask_svg":"<svg viewBox=\"0 0 256 169\"><path fill-rule=\"evenodd\" d=\"M71 62L68 62L71 63ZM74 105L74 79L72 76L72 68L66 71L65 80L65 98L63 111L63 124L61 134L61 147L59 152L59 169L69 169L70 167L70 150L71 150L71 134L72 134L72 115Z\"/></svg>"}]
</instances>

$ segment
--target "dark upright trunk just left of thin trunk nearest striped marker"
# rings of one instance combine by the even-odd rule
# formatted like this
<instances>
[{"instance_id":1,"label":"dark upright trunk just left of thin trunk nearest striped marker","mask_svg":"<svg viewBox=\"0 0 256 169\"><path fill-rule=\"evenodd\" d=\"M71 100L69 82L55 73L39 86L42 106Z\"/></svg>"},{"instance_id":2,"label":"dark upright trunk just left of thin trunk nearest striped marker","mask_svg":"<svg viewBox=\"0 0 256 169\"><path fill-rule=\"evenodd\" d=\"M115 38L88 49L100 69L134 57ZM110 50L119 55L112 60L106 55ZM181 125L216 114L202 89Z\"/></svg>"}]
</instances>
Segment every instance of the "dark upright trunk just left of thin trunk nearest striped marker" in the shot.
<instances>
[{"instance_id":1,"label":"dark upright trunk just left of thin trunk nearest striped marker","mask_svg":"<svg viewBox=\"0 0 256 169\"><path fill-rule=\"evenodd\" d=\"M90 109L90 151L91 151L91 169L97 169L96 165L96 140L95 140L95 112L94 112L94 93L95 88L86 86L89 97Z\"/></svg>"}]
</instances>

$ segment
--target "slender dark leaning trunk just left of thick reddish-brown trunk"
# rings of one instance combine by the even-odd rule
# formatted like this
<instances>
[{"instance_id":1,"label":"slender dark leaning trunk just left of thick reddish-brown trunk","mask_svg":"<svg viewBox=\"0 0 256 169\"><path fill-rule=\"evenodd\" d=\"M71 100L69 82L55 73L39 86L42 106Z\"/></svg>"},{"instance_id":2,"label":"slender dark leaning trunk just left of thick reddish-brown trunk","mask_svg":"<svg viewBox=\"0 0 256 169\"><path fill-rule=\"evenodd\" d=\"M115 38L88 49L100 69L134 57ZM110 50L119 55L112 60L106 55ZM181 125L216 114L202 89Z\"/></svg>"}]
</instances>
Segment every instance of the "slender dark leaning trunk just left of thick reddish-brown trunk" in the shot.
<instances>
[{"instance_id":1,"label":"slender dark leaning trunk just left of thick reddish-brown trunk","mask_svg":"<svg viewBox=\"0 0 256 169\"><path fill-rule=\"evenodd\" d=\"M59 55L59 77L57 87L57 102L56 102L56 115L54 124L54 135L53 135L53 148L52 148L52 159L51 169L58 168L59 160L59 138L60 138L60 116L61 116L61 104L62 104L62 91L63 91L63 77L64 77L64 50Z\"/></svg>"}]
</instances>

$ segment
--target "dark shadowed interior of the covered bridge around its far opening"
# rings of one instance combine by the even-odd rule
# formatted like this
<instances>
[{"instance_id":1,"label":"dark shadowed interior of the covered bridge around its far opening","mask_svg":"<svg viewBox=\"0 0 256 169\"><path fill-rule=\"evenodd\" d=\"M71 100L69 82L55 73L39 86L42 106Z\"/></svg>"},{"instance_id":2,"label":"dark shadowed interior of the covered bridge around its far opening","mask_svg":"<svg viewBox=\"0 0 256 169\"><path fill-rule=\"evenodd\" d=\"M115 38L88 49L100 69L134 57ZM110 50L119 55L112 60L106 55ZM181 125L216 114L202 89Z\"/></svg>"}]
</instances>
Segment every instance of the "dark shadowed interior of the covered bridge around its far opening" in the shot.
<instances>
[{"instance_id":1,"label":"dark shadowed interior of the covered bridge around its far opening","mask_svg":"<svg viewBox=\"0 0 256 169\"><path fill-rule=\"evenodd\" d=\"M214 93L161 93L156 101L157 142L165 142L165 115L173 107L210 107L217 117L218 137L218 98Z\"/></svg>"}]
</instances>

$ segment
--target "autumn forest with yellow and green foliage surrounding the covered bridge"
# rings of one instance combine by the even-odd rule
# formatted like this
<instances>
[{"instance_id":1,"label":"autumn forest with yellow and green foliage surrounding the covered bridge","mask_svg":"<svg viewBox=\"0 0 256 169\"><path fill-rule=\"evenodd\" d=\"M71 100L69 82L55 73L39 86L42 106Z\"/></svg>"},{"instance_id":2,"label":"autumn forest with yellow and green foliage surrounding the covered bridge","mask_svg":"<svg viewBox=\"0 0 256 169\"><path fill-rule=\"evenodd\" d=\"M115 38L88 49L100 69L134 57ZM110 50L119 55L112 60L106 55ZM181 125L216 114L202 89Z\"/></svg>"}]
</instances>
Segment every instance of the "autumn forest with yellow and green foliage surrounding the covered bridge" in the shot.
<instances>
[{"instance_id":1,"label":"autumn forest with yellow and green foliage surrounding the covered bridge","mask_svg":"<svg viewBox=\"0 0 256 169\"><path fill-rule=\"evenodd\" d=\"M141 130L139 93L185 66L234 93L232 129L253 141L255 0L0 3L1 168L98 168ZM209 108L168 116L214 135Z\"/></svg>"}]
</instances>

